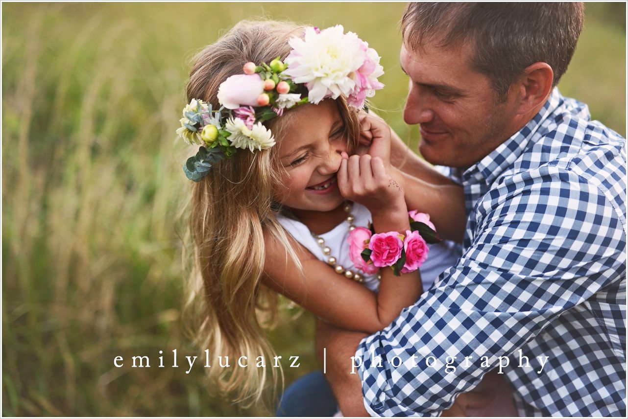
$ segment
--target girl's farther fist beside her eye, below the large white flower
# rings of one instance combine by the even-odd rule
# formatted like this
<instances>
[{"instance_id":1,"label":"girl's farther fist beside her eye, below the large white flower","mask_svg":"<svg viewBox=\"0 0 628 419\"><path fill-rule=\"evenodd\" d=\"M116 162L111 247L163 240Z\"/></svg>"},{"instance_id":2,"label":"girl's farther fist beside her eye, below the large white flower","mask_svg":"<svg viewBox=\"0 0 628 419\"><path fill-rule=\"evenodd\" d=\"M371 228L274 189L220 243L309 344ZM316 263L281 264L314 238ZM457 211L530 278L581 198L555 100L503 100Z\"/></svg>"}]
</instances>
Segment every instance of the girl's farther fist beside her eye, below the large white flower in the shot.
<instances>
[{"instance_id":1,"label":"girl's farther fist beside her eye, below the large white flower","mask_svg":"<svg viewBox=\"0 0 628 419\"><path fill-rule=\"evenodd\" d=\"M386 172L391 166L391 127L383 119L374 114L360 111L360 141L356 154L370 154L379 157L384 163Z\"/></svg>"}]
</instances>

